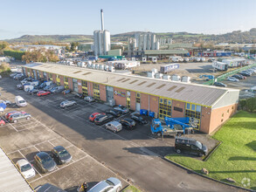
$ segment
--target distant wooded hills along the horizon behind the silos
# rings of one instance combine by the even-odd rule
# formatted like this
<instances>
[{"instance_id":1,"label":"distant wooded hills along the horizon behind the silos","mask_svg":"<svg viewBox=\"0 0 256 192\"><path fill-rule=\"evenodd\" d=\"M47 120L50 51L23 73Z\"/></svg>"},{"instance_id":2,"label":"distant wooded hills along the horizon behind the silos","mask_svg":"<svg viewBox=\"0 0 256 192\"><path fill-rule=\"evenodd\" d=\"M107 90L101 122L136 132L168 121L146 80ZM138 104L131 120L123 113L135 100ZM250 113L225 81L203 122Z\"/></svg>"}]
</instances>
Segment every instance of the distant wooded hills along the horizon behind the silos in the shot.
<instances>
[{"instance_id":1,"label":"distant wooded hills along the horizon behind the silos","mask_svg":"<svg viewBox=\"0 0 256 192\"><path fill-rule=\"evenodd\" d=\"M111 36L112 42L127 41L128 38L134 38L135 33L132 31L115 34ZM156 33L156 38L172 38L176 43L193 43L198 41L214 41L227 43L256 43L256 28L250 31L232 31L221 35L205 35L203 33L189 32L163 32ZM9 43L35 43L35 42L53 42L53 43L71 43L71 42L93 42L93 35L24 35L20 38L6 40Z\"/></svg>"}]
</instances>

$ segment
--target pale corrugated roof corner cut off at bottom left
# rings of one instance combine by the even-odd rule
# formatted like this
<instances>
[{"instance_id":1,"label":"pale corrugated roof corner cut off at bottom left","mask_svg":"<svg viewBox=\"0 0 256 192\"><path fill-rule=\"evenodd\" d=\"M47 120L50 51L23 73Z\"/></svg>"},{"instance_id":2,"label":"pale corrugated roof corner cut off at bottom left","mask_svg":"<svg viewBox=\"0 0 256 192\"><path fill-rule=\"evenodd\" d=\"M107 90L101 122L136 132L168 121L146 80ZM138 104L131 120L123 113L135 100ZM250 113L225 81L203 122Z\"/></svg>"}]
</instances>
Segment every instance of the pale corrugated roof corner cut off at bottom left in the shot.
<instances>
[{"instance_id":1,"label":"pale corrugated roof corner cut off at bottom left","mask_svg":"<svg viewBox=\"0 0 256 192\"><path fill-rule=\"evenodd\" d=\"M10 159L0 147L0 191L8 192L32 192L29 184L24 181L24 177L18 172Z\"/></svg>"}]
</instances>

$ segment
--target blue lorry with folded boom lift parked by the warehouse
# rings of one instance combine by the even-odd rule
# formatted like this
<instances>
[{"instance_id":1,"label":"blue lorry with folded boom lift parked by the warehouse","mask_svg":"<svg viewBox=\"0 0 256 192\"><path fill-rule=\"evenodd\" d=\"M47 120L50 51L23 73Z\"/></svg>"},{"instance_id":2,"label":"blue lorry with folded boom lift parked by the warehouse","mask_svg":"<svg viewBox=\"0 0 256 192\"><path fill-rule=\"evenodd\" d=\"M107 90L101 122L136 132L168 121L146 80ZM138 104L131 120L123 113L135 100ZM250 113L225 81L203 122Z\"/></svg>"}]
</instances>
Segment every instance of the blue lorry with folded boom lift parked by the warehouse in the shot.
<instances>
[{"instance_id":1,"label":"blue lorry with folded boom lift parked by the warehouse","mask_svg":"<svg viewBox=\"0 0 256 192\"><path fill-rule=\"evenodd\" d=\"M197 127L198 121L194 118L170 118L165 117L164 120L154 119L150 125L151 133L157 136L185 134L185 130Z\"/></svg>"}]
</instances>

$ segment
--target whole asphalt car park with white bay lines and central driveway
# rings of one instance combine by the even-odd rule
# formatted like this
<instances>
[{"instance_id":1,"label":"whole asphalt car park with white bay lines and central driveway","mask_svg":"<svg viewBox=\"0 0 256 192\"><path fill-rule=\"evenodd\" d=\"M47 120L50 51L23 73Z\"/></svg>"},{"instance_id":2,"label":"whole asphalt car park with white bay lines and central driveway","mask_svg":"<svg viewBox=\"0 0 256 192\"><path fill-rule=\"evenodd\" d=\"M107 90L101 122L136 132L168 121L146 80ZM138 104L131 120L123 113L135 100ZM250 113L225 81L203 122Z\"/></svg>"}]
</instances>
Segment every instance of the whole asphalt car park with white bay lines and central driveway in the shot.
<instances>
[{"instance_id":1,"label":"whole asphalt car park with white bay lines and central driveway","mask_svg":"<svg viewBox=\"0 0 256 192\"><path fill-rule=\"evenodd\" d=\"M31 113L33 118L24 121L24 125L18 122L0 127L0 145L10 158L16 162L25 157L33 163L34 154L49 152L57 145L67 147L73 155L73 161L58 166L53 172L43 174L38 170L36 177L29 181L33 187L51 182L62 189L74 191L81 182L89 182L91 187L115 176L121 179L123 187L128 180L145 191L234 190L187 174L182 168L163 161L165 154L173 152L174 138L166 137L162 141L162 138L153 137L149 125L137 125L132 131L123 129L114 134L104 125L96 126L88 120L91 113L104 112L110 106L86 103L83 99L75 99L72 94L32 96L16 90L16 84L17 81L10 79L1 81L3 99L13 102L16 95L21 95L29 105L18 110ZM74 99L78 105L62 109L59 104L65 99ZM6 112L14 108L16 106L10 106ZM170 177L170 173L176 176ZM204 186L199 187L198 183L202 182Z\"/></svg>"}]
</instances>

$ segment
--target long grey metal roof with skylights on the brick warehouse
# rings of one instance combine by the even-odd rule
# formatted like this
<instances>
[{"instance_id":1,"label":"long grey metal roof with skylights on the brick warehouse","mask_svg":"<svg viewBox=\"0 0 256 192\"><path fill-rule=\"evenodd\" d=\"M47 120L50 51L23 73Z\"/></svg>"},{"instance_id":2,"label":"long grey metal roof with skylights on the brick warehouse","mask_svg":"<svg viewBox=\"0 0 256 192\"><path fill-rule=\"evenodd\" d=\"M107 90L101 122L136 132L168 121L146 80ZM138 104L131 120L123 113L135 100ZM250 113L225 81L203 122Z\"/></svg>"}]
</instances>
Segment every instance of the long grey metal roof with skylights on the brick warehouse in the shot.
<instances>
[{"instance_id":1,"label":"long grey metal roof with skylights on the brick warehouse","mask_svg":"<svg viewBox=\"0 0 256 192\"><path fill-rule=\"evenodd\" d=\"M212 104L214 104L214 102L223 94L228 92L228 90L233 90L216 86L188 84L163 79L150 79L141 76L104 72L68 65L34 63L24 66L39 71L64 75L74 79L83 79L94 83L104 84L106 86L119 87L130 91L148 93L203 106L212 106Z\"/></svg>"}]
</instances>

